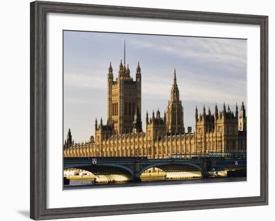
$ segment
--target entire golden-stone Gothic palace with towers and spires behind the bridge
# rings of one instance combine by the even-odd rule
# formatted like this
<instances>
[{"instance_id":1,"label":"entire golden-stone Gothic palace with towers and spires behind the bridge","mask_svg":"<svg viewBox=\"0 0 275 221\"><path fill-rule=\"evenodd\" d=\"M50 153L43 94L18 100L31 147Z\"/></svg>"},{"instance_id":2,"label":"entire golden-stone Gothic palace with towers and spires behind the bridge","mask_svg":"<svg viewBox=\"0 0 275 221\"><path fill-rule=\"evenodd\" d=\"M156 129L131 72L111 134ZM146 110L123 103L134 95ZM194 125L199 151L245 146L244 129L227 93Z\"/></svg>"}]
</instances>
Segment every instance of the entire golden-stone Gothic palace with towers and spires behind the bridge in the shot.
<instances>
[{"instance_id":1,"label":"entire golden-stone Gothic palace with towers and spires behind the bridge","mask_svg":"<svg viewBox=\"0 0 275 221\"><path fill-rule=\"evenodd\" d=\"M239 113L240 112L240 113ZM118 67L114 79L111 63L107 73L107 119L95 119L95 135L89 141L74 143L70 129L63 144L64 157L147 157L167 158L171 154L207 154L246 150L246 115L242 102L238 112L228 107L213 113L194 111L195 128L184 127L183 106L176 83L176 71L166 111L145 114L141 121L141 68L136 67L135 81L128 65Z\"/></svg>"}]
</instances>

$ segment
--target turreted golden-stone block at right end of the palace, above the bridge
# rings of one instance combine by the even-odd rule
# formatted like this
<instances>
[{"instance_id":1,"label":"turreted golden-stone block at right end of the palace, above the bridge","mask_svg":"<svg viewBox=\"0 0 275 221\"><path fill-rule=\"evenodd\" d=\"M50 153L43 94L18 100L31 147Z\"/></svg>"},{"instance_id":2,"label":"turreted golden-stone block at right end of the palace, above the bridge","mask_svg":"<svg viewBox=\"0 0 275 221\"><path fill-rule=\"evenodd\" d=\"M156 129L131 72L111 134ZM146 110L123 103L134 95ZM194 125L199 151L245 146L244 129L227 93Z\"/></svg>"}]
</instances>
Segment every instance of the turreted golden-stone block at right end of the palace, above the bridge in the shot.
<instances>
[{"instance_id":1,"label":"turreted golden-stone block at right end of the palace, above the bridge","mask_svg":"<svg viewBox=\"0 0 275 221\"><path fill-rule=\"evenodd\" d=\"M215 104L214 114L210 108L205 112L203 106L202 114L197 114L195 109L195 142L197 154L207 154L208 152L231 152L245 149L245 143L238 132L238 108L235 107L235 114L225 104L218 112Z\"/></svg>"}]
</instances>

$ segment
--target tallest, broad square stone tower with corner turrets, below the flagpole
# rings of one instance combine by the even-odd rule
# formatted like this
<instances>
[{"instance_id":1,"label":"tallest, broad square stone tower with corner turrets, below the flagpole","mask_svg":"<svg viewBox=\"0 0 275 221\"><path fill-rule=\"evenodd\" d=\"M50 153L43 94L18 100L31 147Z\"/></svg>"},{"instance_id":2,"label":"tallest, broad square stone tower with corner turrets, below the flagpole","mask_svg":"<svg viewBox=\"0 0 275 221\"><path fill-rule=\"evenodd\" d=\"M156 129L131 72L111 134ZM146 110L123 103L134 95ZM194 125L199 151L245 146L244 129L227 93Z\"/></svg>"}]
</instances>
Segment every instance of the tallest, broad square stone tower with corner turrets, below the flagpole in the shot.
<instances>
[{"instance_id":1,"label":"tallest, broad square stone tower with corner turrets, below the flagpole","mask_svg":"<svg viewBox=\"0 0 275 221\"><path fill-rule=\"evenodd\" d=\"M107 75L107 124L113 124L114 134L122 134L133 129L135 110L141 115L141 72L139 62L136 67L135 81L130 76L129 66L120 64L118 76L113 80L111 63Z\"/></svg>"}]
</instances>

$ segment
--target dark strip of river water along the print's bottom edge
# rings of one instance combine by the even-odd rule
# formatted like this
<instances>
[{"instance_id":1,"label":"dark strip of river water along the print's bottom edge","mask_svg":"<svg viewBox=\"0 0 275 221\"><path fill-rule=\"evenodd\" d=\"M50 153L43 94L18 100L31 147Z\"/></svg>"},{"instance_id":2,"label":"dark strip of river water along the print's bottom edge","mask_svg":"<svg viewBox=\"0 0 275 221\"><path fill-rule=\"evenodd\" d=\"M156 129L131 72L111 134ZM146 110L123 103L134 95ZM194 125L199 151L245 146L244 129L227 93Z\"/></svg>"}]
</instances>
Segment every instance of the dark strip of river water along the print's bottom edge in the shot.
<instances>
[{"instance_id":1,"label":"dark strip of river water along the print's bottom edge","mask_svg":"<svg viewBox=\"0 0 275 221\"><path fill-rule=\"evenodd\" d=\"M145 181L139 183L108 183L108 184L92 184L90 181L70 181L70 185L65 185L64 190L85 190L99 188L118 188L118 187L146 187L161 185L177 185L177 184L205 184L205 183L227 183L227 182L245 182L246 177L216 177L208 179L189 179L189 180L164 180L164 181Z\"/></svg>"}]
</instances>

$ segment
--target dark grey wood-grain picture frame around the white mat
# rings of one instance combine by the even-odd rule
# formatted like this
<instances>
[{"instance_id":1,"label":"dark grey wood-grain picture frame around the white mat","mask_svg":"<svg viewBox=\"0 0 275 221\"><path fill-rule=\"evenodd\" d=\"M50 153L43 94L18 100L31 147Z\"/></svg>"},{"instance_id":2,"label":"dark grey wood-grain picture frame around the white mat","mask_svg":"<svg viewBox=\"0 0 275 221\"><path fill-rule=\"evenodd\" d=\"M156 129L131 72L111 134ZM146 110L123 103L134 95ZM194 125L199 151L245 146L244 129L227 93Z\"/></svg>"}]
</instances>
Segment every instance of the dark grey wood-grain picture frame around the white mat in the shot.
<instances>
[{"instance_id":1,"label":"dark grey wood-grain picture frame around the white mat","mask_svg":"<svg viewBox=\"0 0 275 221\"><path fill-rule=\"evenodd\" d=\"M46 208L46 14L69 13L260 26L260 196ZM30 218L33 220L248 207L268 204L268 16L33 1L30 3Z\"/></svg>"}]
</instances>

